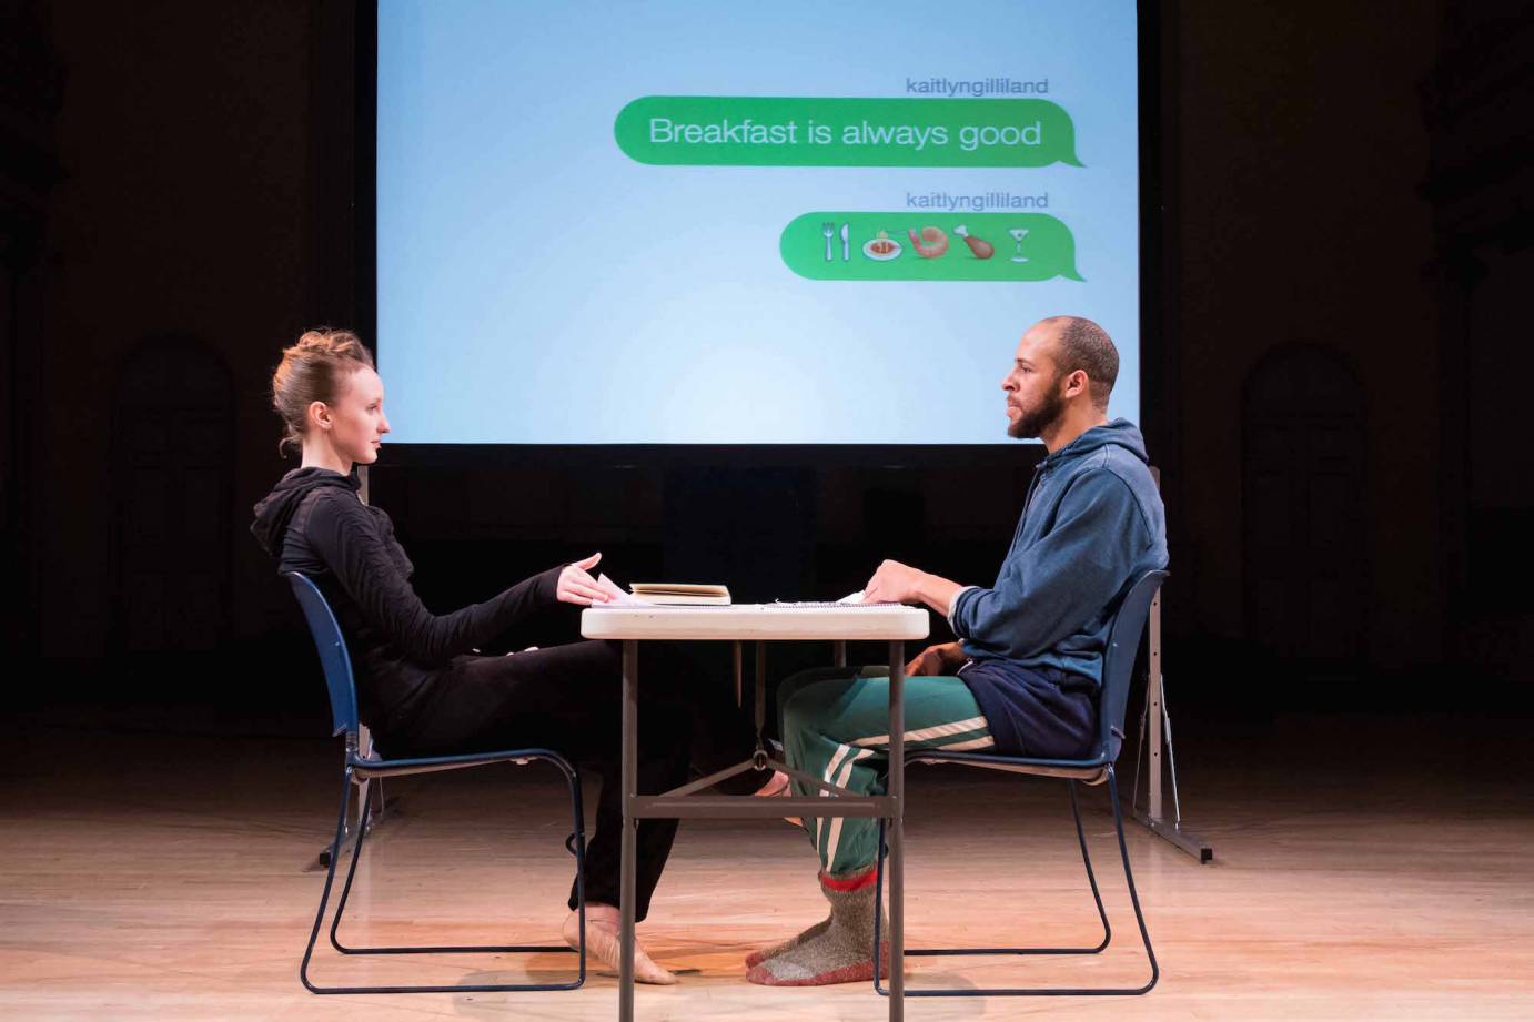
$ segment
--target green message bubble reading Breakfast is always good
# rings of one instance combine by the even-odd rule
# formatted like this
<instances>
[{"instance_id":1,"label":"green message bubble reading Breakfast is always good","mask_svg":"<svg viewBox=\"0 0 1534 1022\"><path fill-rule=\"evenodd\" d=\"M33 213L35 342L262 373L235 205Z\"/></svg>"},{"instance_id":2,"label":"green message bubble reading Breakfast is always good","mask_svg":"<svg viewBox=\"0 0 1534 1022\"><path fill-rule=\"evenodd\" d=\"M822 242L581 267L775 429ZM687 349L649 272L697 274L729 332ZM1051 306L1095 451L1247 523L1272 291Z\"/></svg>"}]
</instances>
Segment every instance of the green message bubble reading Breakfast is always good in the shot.
<instances>
[{"instance_id":1,"label":"green message bubble reading Breakfast is always good","mask_svg":"<svg viewBox=\"0 0 1534 1022\"><path fill-rule=\"evenodd\" d=\"M739 167L1081 166L1049 100L647 95L618 112L640 163Z\"/></svg>"}]
</instances>

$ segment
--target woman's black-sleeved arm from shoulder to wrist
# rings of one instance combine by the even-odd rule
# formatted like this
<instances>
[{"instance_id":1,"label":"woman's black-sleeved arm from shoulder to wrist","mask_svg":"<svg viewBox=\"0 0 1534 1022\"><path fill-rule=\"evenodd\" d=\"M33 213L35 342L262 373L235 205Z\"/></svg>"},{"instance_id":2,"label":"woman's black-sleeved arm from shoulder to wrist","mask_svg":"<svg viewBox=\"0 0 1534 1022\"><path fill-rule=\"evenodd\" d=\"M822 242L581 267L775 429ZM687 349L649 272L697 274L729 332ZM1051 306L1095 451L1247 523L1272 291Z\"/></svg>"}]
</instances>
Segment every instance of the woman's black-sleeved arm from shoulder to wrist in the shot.
<instances>
[{"instance_id":1,"label":"woman's black-sleeved arm from shoulder to wrist","mask_svg":"<svg viewBox=\"0 0 1534 1022\"><path fill-rule=\"evenodd\" d=\"M563 565L532 575L483 603L433 614L416 595L371 513L356 496L324 491L304 532L367 621L411 660L443 663L488 643L526 614L555 602Z\"/></svg>"}]
</instances>

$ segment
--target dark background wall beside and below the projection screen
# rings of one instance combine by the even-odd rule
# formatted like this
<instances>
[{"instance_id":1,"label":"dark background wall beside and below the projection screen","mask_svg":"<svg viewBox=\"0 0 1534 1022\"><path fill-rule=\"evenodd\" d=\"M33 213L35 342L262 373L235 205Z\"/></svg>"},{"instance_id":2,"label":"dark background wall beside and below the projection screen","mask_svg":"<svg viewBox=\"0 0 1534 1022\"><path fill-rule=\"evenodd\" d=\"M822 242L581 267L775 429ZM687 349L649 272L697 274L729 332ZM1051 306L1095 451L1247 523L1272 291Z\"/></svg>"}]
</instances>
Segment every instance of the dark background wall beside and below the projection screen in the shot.
<instances>
[{"instance_id":1,"label":"dark background wall beside and below the projection screen","mask_svg":"<svg viewBox=\"0 0 1534 1022\"><path fill-rule=\"evenodd\" d=\"M1195 706L1269 712L1275 678L1315 710L1431 701L1447 677L1528 704L1523 6L1180 0L1154 18L1146 427L1172 523L1167 669ZM285 470L278 348L365 325L353 21L341 2L0 0L5 634L26 668L5 684L23 707L238 706L279 729L322 712L245 525ZM1000 373L1014 338L996 342ZM385 450L373 483L443 608L594 548L624 577L772 598L839 595L882 556L988 580L1035 454L1011 456Z\"/></svg>"}]
</instances>

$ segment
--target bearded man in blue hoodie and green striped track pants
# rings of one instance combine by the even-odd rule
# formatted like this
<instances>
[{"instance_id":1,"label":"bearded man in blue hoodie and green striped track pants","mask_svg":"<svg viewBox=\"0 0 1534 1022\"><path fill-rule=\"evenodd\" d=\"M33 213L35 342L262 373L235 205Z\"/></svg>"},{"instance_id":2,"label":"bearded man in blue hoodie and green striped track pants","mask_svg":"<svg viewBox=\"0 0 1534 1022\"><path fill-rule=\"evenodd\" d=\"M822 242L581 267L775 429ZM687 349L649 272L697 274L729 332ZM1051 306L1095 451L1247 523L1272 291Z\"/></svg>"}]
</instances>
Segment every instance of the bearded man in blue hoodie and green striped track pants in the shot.
<instances>
[{"instance_id":1,"label":"bearded man in blue hoodie and green striped track pants","mask_svg":"<svg viewBox=\"0 0 1534 1022\"><path fill-rule=\"evenodd\" d=\"M1129 585L1166 566L1166 522L1144 440L1108 420L1118 351L1089 319L1055 316L1017 345L1006 391L1012 437L1039 437L1023 514L991 588L887 560L865 602L925 603L960 641L930 646L908 666L907 749L986 749L1069 758L1097 734L1103 649ZM888 669L807 671L779 691L788 763L854 792L884 792ZM816 795L795 783L798 795ZM810 987L873 976L877 823L804 821L821 856L830 916L747 958L749 979ZM888 945L881 948L888 954Z\"/></svg>"}]
</instances>

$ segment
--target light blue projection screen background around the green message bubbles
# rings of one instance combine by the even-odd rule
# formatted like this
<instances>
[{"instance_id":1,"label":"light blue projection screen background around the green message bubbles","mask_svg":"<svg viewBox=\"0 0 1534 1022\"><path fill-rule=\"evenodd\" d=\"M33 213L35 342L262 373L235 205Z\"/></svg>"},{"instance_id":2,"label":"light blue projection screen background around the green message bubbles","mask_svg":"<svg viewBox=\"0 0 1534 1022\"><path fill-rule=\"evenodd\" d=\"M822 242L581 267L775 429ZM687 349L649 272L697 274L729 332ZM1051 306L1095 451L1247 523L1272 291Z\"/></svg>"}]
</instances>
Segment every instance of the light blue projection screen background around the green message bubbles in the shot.
<instances>
[{"instance_id":1,"label":"light blue projection screen background around the green message bubbles","mask_svg":"<svg viewBox=\"0 0 1534 1022\"><path fill-rule=\"evenodd\" d=\"M1109 331L1109 411L1138 419L1135 58L1132 0L379 0L391 440L1006 442L1000 377L1057 313ZM1048 78L1085 166L663 167L614 141L643 95L933 77ZM933 190L1048 193L1085 282L808 281L779 256L801 213Z\"/></svg>"}]
</instances>

